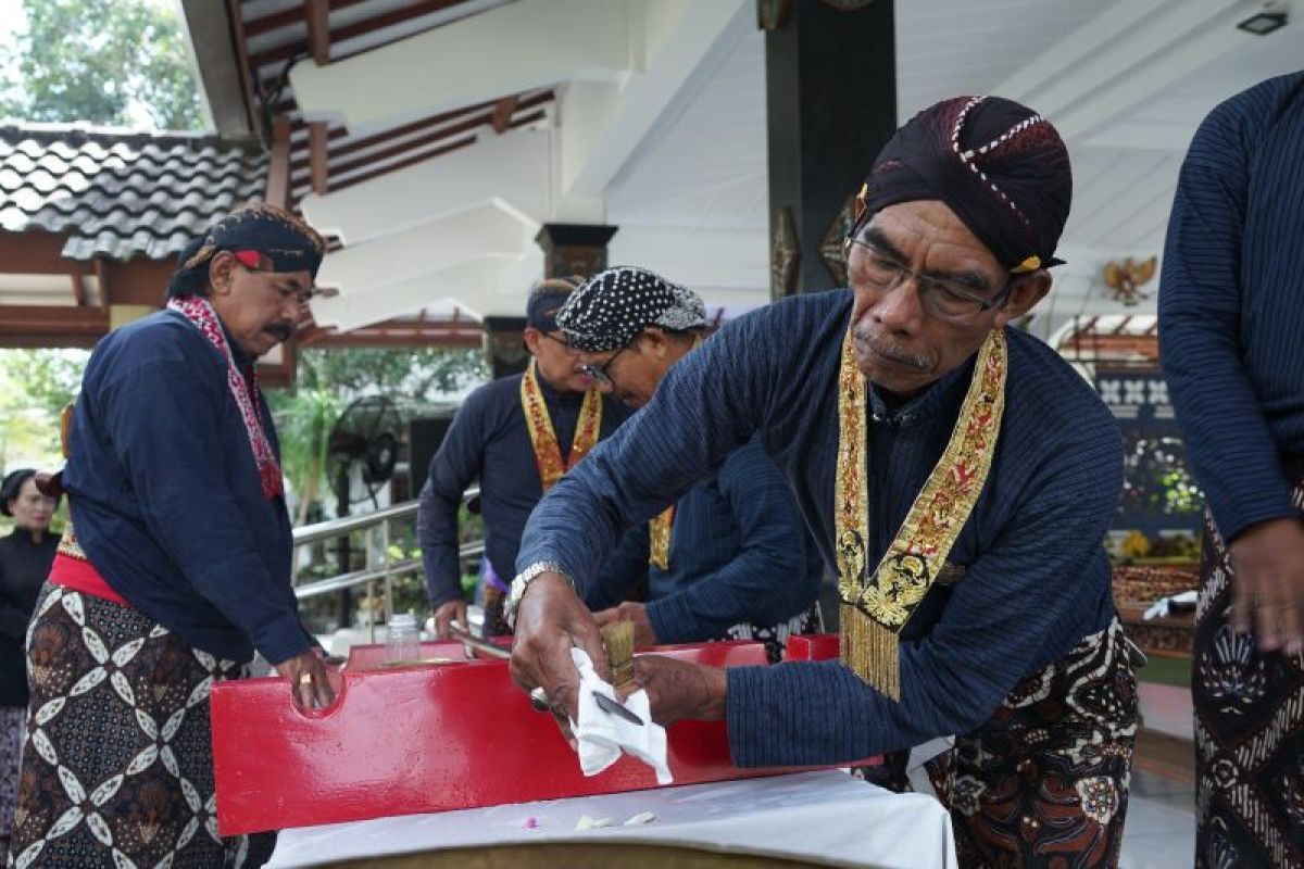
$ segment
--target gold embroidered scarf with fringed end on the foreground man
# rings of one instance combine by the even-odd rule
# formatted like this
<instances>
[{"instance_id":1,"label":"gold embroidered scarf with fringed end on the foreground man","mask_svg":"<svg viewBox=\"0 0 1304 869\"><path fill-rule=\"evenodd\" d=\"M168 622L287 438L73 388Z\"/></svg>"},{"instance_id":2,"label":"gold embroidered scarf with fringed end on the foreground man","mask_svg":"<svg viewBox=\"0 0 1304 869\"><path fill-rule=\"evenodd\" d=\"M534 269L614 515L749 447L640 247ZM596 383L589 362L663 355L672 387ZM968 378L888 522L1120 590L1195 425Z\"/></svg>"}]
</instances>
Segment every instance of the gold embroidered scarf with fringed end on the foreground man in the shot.
<instances>
[{"instance_id":1,"label":"gold embroidered scarf with fringed end on the foreground man","mask_svg":"<svg viewBox=\"0 0 1304 869\"><path fill-rule=\"evenodd\" d=\"M901 698L898 634L945 565L978 503L1005 409L1005 335L992 330L978 350L969 392L936 468L915 498L883 560L867 572L870 495L866 384L852 331L842 341L837 382L837 476L833 492L841 657L855 675Z\"/></svg>"}]
</instances>

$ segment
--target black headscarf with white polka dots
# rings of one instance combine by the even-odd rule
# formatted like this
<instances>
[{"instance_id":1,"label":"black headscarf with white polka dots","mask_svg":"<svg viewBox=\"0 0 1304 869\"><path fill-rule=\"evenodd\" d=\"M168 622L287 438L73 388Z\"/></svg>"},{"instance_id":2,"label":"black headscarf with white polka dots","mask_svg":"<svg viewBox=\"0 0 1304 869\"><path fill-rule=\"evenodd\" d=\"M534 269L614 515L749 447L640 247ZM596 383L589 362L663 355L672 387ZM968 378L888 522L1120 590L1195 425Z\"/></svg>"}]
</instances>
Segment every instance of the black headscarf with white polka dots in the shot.
<instances>
[{"instance_id":1,"label":"black headscarf with white polka dots","mask_svg":"<svg viewBox=\"0 0 1304 869\"><path fill-rule=\"evenodd\" d=\"M707 326L707 306L692 292L635 266L600 271L571 293L557 314L567 343L584 353L627 347L648 326L686 332Z\"/></svg>"}]
</instances>

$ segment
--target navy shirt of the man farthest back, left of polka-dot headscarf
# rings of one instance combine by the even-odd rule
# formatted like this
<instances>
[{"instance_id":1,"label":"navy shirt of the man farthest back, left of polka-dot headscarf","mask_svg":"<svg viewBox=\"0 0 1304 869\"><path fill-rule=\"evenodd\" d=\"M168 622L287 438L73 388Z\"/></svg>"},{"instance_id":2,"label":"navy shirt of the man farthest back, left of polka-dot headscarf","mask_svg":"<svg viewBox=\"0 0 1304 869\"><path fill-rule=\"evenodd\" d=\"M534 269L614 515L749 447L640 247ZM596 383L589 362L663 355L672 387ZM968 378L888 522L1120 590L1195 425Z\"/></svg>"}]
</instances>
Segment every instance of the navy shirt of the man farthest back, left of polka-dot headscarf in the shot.
<instances>
[{"instance_id":1,"label":"navy shirt of the man farthest back, left of polka-dot headscarf","mask_svg":"<svg viewBox=\"0 0 1304 869\"><path fill-rule=\"evenodd\" d=\"M510 582L515 576L512 565L520 548L520 533L529 511L544 496L526 412L520 406L523 377L501 378L467 396L430 461L417 509L417 538L432 606L462 597L458 508L462 494L476 479L480 481L480 511L485 522L485 555L503 581ZM562 459L567 459L584 395L559 392L542 378L539 386ZM629 414L623 404L604 397L600 435L605 438L615 431ZM626 554L629 558L613 569L619 573L647 569L640 551L622 548L622 555Z\"/></svg>"}]
</instances>

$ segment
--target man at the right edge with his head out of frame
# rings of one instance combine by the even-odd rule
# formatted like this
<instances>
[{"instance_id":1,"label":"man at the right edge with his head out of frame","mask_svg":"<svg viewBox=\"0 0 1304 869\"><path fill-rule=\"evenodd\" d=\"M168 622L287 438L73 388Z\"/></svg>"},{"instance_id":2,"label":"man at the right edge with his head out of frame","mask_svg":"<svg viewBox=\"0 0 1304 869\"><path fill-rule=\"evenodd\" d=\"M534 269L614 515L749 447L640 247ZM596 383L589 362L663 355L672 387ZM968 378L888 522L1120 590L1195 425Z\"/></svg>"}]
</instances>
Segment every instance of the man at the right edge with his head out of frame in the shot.
<instances>
[{"instance_id":1,"label":"man at the right edge with his head out of frame","mask_svg":"<svg viewBox=\"0 0 1304 869\"><path fill-rule=\"evenodd\" d=\"M1304 73L1218 106L1178 181L1159 349L1209 500L1196 865L1304 864Z\"/></svg>"}]
</instances>

